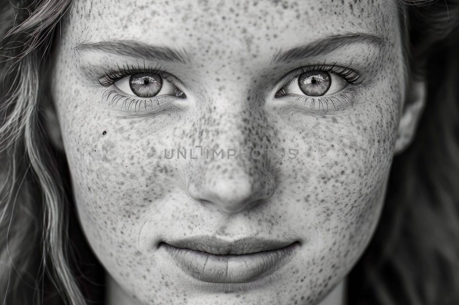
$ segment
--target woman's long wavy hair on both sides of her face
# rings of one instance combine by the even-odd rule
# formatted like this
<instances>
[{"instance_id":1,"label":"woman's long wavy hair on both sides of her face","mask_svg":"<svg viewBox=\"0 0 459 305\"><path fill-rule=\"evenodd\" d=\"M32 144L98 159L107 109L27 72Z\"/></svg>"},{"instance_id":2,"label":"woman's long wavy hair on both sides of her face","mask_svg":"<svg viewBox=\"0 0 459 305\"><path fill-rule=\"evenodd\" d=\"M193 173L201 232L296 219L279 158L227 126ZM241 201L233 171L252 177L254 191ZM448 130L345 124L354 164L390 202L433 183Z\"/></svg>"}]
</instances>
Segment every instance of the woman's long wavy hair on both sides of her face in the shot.
<instances>
[{"instance_id":1,"label":"woman's long wavy hair on both sides of her face","mask_svg":"<svg viewBox=\"0 0 459 305\"><path fill-rule=\"evenodd\" d=\"M398 1L410 77L427 80L428 100L414 143L394 158L378 229L349 276L349 303L453 304L459 0ZM77 229L65 156L48 143L39 108L47 94L40 75L71 2L0 0L0 304L103 298L91 294L101 290L91 269L102 268Z\"/></svg>"}]
</instances>

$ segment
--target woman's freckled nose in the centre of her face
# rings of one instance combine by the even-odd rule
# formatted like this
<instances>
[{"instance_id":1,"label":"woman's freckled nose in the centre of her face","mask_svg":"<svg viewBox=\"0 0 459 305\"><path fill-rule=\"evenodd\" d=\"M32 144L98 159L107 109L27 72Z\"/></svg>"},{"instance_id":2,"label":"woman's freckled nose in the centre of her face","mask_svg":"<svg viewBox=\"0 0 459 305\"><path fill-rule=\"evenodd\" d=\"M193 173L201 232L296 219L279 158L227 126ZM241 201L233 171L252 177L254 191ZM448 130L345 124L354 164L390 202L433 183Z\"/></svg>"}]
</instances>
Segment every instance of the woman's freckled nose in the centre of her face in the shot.
<instances>
[{"instance_id":1,"label":"woman's freckled nose in the centre of her face","mask_svg":"<svg viewBox=\"0 0 459 305\"><path fill-rule=\"evenodd\" d=\"M252 90L251 76L241 75L236 80L234 73L222 75L219 77L232 76L202 91L207 107L196 120L194 139L202 151L198 159L189 161L187 191L196 201L237 213L273 196L269 149L277 138L263 108L264 97ZM222 151L218 156L213 153Z\"/></svg>"}]
</instances>

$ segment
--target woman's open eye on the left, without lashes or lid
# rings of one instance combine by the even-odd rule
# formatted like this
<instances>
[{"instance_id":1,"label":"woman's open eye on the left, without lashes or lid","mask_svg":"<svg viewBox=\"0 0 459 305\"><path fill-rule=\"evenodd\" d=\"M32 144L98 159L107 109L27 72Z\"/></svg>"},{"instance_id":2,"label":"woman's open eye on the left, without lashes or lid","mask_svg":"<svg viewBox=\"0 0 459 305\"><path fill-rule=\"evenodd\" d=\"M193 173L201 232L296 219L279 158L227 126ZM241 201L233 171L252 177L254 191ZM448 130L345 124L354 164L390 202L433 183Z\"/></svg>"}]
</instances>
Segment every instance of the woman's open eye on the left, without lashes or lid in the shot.
<instances>
[{"instance_id":1,"label":"woman's open eye on the left, without lashes or lid","mask_svg":"<svg viewBox=\"0 0 459 305\"><path fill-rule=\"evenodd\" d=\"M151 72L135 73L113 83L123 93L140 98L152 98L160 95L184 95L162 75Z\"/></svg>"}]
</instances>

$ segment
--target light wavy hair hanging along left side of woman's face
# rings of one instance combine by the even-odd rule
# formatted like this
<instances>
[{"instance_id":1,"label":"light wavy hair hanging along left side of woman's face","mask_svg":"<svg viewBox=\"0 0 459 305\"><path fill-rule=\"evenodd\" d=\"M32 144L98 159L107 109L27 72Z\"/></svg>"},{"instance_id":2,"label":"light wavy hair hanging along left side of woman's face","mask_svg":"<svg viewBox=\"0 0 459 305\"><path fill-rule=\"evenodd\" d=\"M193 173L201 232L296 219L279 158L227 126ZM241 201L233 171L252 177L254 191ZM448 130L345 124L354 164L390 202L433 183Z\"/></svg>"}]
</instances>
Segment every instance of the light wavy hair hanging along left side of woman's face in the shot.
<instances>
[{"instance_id":1,"label":"light wavy hair hanging along left side of woman's face","mask_svg":"<svg viewBox=\"0 0 459 305\"><path fill-rule=\"evenodd\" d=\"M68 304L85 304L67 261L68 202L38 111L41 63L70 2L36 1L19 12L28 15L22 22L1 29L9 28L0 43L0 261L9 266L0 274L0 295L6 304L28 304L29 295L41 303L45 274ZM12 21L12 13L6 9L1 20Z\"/></svg>"}]
</instances>

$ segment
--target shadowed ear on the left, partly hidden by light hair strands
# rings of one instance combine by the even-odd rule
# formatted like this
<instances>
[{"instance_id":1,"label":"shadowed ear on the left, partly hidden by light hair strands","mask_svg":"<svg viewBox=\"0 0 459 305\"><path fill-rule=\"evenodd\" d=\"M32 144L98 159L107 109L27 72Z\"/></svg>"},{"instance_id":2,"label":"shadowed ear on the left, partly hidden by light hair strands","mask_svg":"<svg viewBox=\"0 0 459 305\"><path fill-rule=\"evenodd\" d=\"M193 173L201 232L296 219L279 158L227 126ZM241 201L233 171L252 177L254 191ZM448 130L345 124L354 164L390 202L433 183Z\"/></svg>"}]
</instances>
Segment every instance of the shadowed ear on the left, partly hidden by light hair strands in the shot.
<instances>
[{"instance_id":1,"label":"shadowed ear on the left, partly hidden by light hair strands","mask_svg":"<svg viewBox=\"0 0 459 305\"><path fill-rule=\"evenodd\" d=\"M64 143L62 141L61 126L59 125L57 112L49 94L46 94L40 100L40 112L42 114L41 122L48 141L54 148L63 152Z\"/></svg>"}]
</instances>

